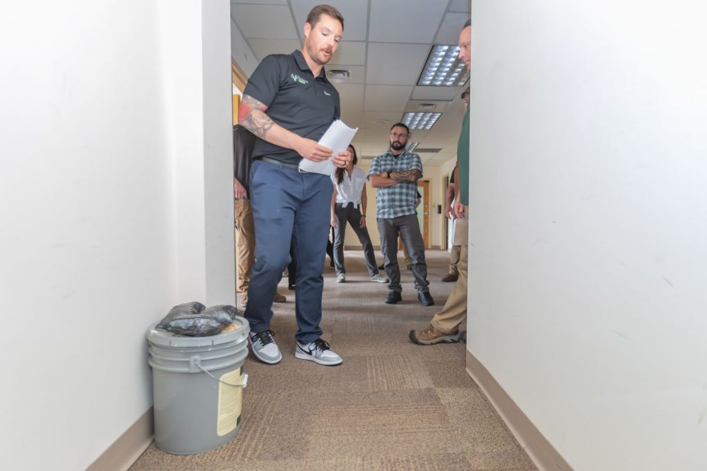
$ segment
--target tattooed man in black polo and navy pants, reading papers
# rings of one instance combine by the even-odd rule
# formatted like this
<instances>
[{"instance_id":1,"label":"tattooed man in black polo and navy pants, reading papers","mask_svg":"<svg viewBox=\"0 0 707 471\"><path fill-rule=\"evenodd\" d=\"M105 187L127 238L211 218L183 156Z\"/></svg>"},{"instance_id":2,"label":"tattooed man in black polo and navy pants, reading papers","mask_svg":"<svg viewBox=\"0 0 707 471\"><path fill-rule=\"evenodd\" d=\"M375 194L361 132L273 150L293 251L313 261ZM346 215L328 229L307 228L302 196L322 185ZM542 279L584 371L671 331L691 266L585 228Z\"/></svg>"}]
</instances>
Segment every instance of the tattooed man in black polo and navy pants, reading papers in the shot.
<instances>
[{"instance_id":1,"label":"tattooed man in black polo and navy pants, reading papers","mask_svg":"<svg viewBox=\"0 0 707 471\"><path fill-rule=\"evenodd\" d=\"M344 18L328 5L312 8L304 24L304 44L292 54L272 54L252 73L239 107L240 124L258 137L250 170L255 219L255 266L245 318L255 357L282 359L269 329L271 299L289 263L290 243L297 263L295 313L299 328L295 356L336 365L341 357L322 340L322 266L329 237L332 181L328 175L298 170L303 158L337 167L351 160L348 150L332 155L317 141L339 119L339 93L324 64L339 47Z\"/></svg>"}]
</instances>

